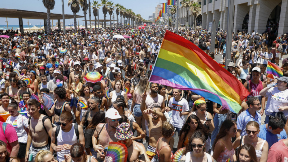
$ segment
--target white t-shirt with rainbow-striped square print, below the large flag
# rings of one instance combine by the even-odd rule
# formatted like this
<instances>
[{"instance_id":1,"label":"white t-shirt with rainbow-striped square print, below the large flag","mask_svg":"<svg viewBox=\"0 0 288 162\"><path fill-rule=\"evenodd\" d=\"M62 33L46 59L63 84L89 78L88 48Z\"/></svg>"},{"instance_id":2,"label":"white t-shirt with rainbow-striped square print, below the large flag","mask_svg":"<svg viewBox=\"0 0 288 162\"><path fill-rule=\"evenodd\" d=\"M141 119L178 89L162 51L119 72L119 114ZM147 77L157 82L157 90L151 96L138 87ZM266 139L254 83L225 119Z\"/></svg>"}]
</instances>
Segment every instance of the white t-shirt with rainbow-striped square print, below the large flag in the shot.
<instances>
[{"instance_id":1,"label":"white t-shirt with rainbow-striped square print, below the large flag","mask_svg":"<svg viewBox=\"0 0 288 162\"><path fill-rule=\"evenodd\" d=\"M185 116L182 115L180 117L180 110L182 109L182 112L190 110L187 100L181 98L179 101L176 101L175 98L172 97L169 100L169 107L172 108L172 117L170 119L170 124L172 124L173 127L182 128L185 121Z\"/></svg>"}]
</instances>

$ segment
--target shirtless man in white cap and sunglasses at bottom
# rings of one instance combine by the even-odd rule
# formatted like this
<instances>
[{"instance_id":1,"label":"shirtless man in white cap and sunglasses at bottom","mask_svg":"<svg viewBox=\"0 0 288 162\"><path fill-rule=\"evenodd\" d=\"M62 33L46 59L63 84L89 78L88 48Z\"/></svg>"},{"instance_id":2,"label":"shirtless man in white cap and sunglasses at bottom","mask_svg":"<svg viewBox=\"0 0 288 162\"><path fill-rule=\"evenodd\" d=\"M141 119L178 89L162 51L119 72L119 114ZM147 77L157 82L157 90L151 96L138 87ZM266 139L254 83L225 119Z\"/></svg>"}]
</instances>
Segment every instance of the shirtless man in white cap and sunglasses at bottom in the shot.
<instances>
[{"instance_id":1,"label":"shirtless man in white cap and sunglasses at bottom","mask_svg":"<svg viewBox=\"0 0 288 162\"><path fill-rule=\"evenodd\" d=\"M116 109L108 109L105 114L106 123L100 123L97 125L94 135L92 136L92 143L95 152L97 152L97 160L103 161L106 152L104 149L108 147L110 142L117 142L114 137L116 133L116 127L119 124L120 118L122 118ZM145 148L144 148L145 149Z\"/></svg>"}]
</instances>

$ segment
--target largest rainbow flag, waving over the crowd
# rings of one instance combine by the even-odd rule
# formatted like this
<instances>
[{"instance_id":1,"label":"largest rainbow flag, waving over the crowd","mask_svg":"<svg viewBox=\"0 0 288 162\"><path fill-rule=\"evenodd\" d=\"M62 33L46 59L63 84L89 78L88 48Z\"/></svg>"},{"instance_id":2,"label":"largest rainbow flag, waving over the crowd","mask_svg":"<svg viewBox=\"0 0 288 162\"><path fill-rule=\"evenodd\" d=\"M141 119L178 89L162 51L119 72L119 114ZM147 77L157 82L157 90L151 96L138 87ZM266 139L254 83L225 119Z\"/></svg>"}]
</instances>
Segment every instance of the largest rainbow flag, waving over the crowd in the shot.
<instances>
[{"instance_id":1,"label":"largest rainbow flag, waving over the crowd","mask_svg":"<svg viewBox=\"0 0 288 162\"><path fill-rule=\"evenodd\" d=\"M238 113L248 90L187 39L166 31L150 82L191 90Z\"/></svg>"}]
</instances>

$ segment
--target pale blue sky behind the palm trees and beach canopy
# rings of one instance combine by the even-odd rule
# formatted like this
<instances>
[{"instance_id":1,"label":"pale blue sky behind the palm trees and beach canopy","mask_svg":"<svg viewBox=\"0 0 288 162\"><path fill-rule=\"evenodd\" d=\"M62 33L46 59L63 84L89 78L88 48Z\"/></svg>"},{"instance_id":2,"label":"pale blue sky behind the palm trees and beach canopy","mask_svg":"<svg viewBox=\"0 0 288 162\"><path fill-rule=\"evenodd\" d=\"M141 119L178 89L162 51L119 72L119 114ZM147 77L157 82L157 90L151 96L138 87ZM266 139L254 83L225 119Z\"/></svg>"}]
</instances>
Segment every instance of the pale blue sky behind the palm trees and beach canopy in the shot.
<instances>
[{"instance_id":1,"label":"pale blue sky behind the palm trees and beach canopy","mask_svg":"<svg viewBox=\"0 0 288 162\"><path fill-rule=\"evenodd\" d=\"M12 2L13 1L13 2ZM19 9L19 10L30 10L30 11L38 11L38 12L46 12L47 9L44 7L43 2L41 0L12 0L12 1L2 1L0 8L6 8L6 9ZM152 15L152 12L155 12L155 7L159 2L166 2L166 0L110 0L114 2L114 4L119 3L120 5L124 6L126 9L132 9L133 12L137 15L140 14L143 19L148 19L149 15ZM91 4L93 0L90 0ZM101 0L99 0L101 2ZM88 3L88 0L87 0ZM68 0L64 0L64 11L65 14L71 14L73 15L70 6L68 6ZM102 7L99 10L99 19L104 19ZM55 6L54 9L50 11L51 13L55 14L62 14L62 1L61 0L55 0ZM115 19L116 19L116 12L115 13ZM82 15L83 11L80 9L80 11L77 13L77 15ZM108 16L107 16L108 15ZM107 13L106 19L110 19L110 15ZM87 20L89 19L89 14L87 10ZM118 15L118 19L120 19L120 15ZM79 18L79 25L83 25L82 21L84 18ZM91 20L94 20L94 16L92 13L91 8ZM0 24L6 24L6 18L0 18ZM71 19L72 23L73 19ZM23 19L23 24L28 25L28 20ZM53 24L55 25L57 20L53 21ZM62 22L62 20L61 20ZM29 19L29 24L32 25L40 25L43 23L43 20L37 20L37 19ZM51 22L52 24L52 22ZM65 25L69 24L69 19L65 20ZM8 18L8 25L19 25L19 21L16 18Z\"/></svg>"}]
</instances>

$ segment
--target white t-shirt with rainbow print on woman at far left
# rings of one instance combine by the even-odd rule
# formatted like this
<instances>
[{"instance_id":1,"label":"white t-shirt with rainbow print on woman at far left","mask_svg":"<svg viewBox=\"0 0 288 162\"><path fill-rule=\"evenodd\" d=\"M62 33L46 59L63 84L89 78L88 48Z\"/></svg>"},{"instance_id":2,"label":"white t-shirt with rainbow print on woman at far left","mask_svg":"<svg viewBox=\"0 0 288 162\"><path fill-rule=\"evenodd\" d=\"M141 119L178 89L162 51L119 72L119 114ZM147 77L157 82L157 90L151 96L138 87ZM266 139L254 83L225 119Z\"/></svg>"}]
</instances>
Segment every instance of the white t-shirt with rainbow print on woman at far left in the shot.
<instances>
[{"instance_id":1,"label":"white t-shirt with rainbow print on woman at far left","mask_svg":"<svg viewBox=\"0 0 288 162\"><path fill-rule=\"evenodd\" d=\"M28 135L25 131L25 128L28 128L28 118L19 114L18 116L9 116L6 120L6 123L13 126L18 135L18 142L27 143Z\"/></svg>"}]
</instances>

